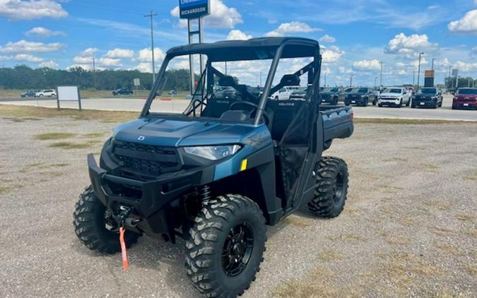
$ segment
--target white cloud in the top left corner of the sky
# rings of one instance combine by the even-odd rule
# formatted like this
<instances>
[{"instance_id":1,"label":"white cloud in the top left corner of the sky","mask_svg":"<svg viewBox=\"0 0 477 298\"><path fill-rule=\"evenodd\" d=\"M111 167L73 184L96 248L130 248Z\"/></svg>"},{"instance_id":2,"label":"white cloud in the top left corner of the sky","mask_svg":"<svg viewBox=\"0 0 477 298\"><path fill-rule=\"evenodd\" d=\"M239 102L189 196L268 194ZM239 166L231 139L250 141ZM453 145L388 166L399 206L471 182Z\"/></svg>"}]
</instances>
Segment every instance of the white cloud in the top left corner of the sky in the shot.
<instances>
[{"instance_id":1,"label":"white cloud in the top left corner of the sky","mask_svg":"<svg viewBox=\"0 0 477 298\"><path fill-rule=\"evenodd\" d=\"M68 13L61 4L52 0L1 0L0 16L11 20L34 20L37 18L64 18Z\"/></svg>"}]
</instances>

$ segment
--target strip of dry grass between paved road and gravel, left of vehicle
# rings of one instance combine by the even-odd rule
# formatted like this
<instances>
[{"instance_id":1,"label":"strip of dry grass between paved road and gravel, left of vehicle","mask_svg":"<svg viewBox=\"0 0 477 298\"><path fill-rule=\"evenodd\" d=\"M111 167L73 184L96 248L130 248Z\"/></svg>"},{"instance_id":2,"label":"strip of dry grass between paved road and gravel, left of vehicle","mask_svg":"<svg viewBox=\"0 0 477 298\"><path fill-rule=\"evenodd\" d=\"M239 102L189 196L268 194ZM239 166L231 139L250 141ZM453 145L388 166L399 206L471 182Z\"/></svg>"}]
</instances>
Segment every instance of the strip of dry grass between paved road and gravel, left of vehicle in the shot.
<instances>
[{"instance_id":1,"label":"strip of dry grass between paved road and gravel, left of vehicle","mask_svg":"<svg viewBox=\"0 0 477 298\"><path fill-rule=\"evenodd\" d=\"M69 117L76 120L98 120L107 123L119 123L139 116L139 112L126 111L100 111L95 109L51 109L47 107L24 107L16 105L0 105L1 117L15 117L18 119L28 119L32 115L39 118Z\"/></svg>"}]
</instances>

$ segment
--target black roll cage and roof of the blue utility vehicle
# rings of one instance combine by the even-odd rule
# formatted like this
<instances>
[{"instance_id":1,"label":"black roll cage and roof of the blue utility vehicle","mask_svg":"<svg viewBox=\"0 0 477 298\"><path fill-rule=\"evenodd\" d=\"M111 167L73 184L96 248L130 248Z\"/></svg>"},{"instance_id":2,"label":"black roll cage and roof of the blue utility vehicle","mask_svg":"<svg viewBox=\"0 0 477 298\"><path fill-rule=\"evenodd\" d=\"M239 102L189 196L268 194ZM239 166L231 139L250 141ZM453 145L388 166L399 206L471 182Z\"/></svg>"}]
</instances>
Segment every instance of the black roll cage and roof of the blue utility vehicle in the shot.
<instances>
[{"instance_id":1,"label":"black roll cage and roof of the blue utility vehicle","mask_svg":"<svg viewBox=\"0 0 477 298\"><path fill-rule=\"evenodd\" d=\"M213 88L213 76L218 76L219 79L225 81L225 85L228 85L238 92L245 95L245 97L252 100L257 100L257 112L255 113L253 124L259 125L264 115L265 107L269 96L280 90L285 85L299 85L300 76L307 73L307 85L314 88L308 88L307 96L312 102L318 105L318 84L319 84L319 70L321 68L322 56L319 53L319 44L316 40L310 40L306 38L298 37L262 37L253 38L250 40L233 40L224 42L215 42L211 44L188 44L181 47L174 47L167 51L163 64L160 67L158 73L158 80L155 81L151 93L148 96L146 104L141 112L141 117L146 117L149 114L149 109L160 86L165 84L165 71L167 64L176 56L201 54L207 56L206 67L204 72L201 73L199 78L199 84L192 97L191 104L183 113L184 117L194 114L196 116L196 107L200 105L206 105L204 100L207 94L204 94L204 89L207 93L210 93ZM312 57L313 61L307 64L293 74L287 74L283 76L280 83L272 87L273 78L275 77L276 70L280 59L285 58L303 58ZM266 83L264 85L263 92L259 97L252 94L247 90L245 85L237 84L235 81L230 80L230 76L218 71L212 66L212 62L223 61L243 61L243 60L261 60L272 59L269 69ZM205 88L207 86L207 88ZM316 92L314 92L316 90ZM201 94L199 94L199 92ZM200 100L196 100L200 95ZM177 117L177 116L176 116Z\"/></svg>"}]
</instances>

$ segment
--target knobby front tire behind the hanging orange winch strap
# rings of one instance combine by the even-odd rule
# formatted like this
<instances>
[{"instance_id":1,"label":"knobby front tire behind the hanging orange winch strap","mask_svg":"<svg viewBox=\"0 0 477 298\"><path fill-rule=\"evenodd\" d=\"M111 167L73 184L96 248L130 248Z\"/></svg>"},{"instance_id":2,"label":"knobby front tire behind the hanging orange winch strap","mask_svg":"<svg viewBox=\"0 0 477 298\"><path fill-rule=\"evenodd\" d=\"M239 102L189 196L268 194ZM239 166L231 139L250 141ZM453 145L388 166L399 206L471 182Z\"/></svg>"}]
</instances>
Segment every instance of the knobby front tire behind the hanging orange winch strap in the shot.
<instances>
[{"instance_id":1,"label":"knobby front tire behind the hanging orange winch strap","mask_svg":"<svg viewBox=\"0 0 477 298\"><path fill-rule=\"evenodd\" d=\"M76 203L73 213L74 232L88 249L102 254L114 254L121 251L119 232L107 230L105 215L105 205L95 195L93 188L88 186ZM139 237L141 235L136 232L126 231L124 233L126 247L136 243Z\"/></svg>"}]
</instances>

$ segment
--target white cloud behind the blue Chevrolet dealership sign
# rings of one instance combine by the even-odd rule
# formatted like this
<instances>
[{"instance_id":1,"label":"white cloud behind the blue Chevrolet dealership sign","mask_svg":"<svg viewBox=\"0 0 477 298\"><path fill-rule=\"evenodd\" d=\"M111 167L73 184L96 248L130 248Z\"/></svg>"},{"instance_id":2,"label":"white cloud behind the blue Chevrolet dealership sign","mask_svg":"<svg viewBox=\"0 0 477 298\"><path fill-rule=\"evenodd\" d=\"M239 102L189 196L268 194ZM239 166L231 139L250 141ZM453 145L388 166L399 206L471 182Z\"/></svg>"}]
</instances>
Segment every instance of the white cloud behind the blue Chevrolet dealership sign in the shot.
<instances>
[{"instance_id":1,"label":"white cloud behind the blue Chevrolet dealership sign","mask_svg":"<svg viewBox=\"0 0 477 298\"><path fill-rule=\"evenodd\" d=\"M212 28L234 28L235 25L243 23L242 15L233 7L223 4L222 0L211 1L211 14L204 18L207 27ZM171 16L179 18L179 6L170 11ZM179 20L179 27L187 26L187 20Z\"/></svg>"}]
</instances>

